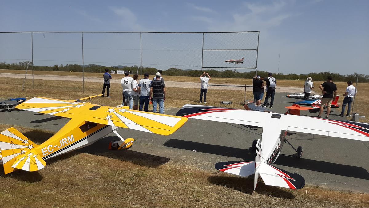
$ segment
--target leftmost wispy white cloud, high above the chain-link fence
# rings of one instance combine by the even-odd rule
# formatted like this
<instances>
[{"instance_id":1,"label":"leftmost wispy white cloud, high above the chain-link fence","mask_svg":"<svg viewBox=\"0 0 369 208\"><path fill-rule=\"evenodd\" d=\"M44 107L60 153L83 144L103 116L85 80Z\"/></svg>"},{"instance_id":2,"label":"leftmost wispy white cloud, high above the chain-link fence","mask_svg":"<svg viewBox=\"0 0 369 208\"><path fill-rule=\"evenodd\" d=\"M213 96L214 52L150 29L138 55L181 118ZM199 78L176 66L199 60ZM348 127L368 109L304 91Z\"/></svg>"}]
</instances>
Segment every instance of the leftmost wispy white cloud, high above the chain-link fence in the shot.
<instances>
[{"instance_id":1,"label":"leftmost wispy white cloud, high above the chain-link fence","mask_svg":"<svg viewBox=\"0 0 369 208\"><path fill-rule=\"evenodd\" d=\"M121 25L125 28L123 30L142 31L143 27L137 23L136 15L127 7L109 7L114 14L121 19Z\"/></svg>"}]
</instances>

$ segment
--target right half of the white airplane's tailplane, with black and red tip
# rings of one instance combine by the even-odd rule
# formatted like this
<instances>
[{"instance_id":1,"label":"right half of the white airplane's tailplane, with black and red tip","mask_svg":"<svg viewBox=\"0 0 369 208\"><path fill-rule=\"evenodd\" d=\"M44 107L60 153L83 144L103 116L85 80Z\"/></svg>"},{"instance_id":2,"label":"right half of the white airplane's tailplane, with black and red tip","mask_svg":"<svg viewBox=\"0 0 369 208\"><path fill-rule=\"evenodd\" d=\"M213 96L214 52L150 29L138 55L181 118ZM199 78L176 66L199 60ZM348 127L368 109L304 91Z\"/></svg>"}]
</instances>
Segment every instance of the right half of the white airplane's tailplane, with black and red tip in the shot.
<instances>
[{"instance_id":1,"label":"right half of the white airplane's tailplane, with black and red tip","mask_svg":"<svg viewBox=\"0 0 369 208\"><path fill-rule=\"evenodd\" d=\"M265 185L290 189L300 189L305 185L305 180L301 175L297 173L292 174L265 162L259 164L258 171L255 172L256 174L261 176Z\"/></svg>"}]
</instances>

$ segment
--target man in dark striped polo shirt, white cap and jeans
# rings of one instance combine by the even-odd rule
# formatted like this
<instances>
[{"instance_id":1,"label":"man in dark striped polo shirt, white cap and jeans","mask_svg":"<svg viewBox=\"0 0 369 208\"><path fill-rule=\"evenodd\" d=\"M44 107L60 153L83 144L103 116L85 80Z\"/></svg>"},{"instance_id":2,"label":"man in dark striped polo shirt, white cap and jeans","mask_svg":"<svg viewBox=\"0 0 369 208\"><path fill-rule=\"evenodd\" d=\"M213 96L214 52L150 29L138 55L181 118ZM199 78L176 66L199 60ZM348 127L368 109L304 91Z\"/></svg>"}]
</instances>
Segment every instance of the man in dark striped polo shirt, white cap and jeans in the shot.
<instances>
[{"instance_id":1,"label":"man in dark striped polo shirt, white cap and jeans","mask_svg":"<svg viewBox=\"0 0 369 208\"><path fill-rule=\"evenodd\" d=\"M164 101L165 101L165 85L164 81L160 79L160 73L156 73L156 79L151 81L150 97L152 95L152 112L156 113L156 106L159 103L159 113L164 113Z\"/></svg>"}]
</instances>

